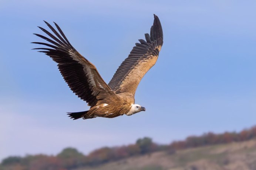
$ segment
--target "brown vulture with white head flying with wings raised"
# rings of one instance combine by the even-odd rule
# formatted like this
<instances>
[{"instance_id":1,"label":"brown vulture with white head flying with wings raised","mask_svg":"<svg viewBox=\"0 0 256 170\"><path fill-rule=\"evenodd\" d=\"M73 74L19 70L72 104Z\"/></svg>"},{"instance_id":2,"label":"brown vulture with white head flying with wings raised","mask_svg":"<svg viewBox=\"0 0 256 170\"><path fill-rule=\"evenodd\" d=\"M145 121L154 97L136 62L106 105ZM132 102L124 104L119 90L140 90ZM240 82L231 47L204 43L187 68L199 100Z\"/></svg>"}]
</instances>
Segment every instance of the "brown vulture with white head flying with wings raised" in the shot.
<instances>
[{"instance_id":1,"label":"brown vulture with white head flying with wings raised","mask_svg":"<svg viewBox=\"0 0 256 170\"><path fill-rule=\"evenodd\" d=\"M155 65L163 45L162 26L155 14L150 35L146 33L145 40L139 39L139 43L135 43L108 84L102 79L95 65L75 50L55 22L58 31L48 22L44 22L52 33L38 26L48 36L36 33L34 35L49 43L32 42L47 46L35 49L58 63L58 69L70 89L90 106L87 111L68 113L70 118L114 118L146 110L145 107L135 104L134 95L142 77Z\"/></svg>"}]
</instances>

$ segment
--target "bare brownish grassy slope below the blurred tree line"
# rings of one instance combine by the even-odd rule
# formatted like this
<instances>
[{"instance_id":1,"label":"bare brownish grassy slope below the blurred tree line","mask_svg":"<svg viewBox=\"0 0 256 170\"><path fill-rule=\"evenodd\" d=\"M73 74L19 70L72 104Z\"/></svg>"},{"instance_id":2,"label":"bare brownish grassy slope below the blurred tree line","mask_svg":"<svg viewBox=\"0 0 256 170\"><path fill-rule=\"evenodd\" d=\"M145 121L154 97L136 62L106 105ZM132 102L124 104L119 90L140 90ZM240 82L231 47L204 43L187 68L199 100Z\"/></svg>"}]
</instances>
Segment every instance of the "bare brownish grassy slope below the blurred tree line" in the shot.
<instances>
[{"instance_id":1,"label":"bare brownish grassy slope below the blurred tree line","mask_svg":"<svg viewBox=\"0 0 256 170\"><path fill-rule=\"evenodd\" d=\"M256 139L133 156L76 170L256 170Z\"/></svg>"}]
</instances>

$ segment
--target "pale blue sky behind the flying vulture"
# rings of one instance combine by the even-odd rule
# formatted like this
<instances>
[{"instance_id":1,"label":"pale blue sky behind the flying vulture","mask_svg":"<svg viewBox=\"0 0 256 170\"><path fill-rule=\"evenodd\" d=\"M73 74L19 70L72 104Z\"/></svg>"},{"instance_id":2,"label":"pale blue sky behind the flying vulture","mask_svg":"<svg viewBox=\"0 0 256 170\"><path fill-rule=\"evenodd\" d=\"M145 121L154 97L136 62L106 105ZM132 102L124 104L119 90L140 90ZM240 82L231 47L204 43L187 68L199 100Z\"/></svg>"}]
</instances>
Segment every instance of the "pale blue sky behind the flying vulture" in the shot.
<instances>
[{"instance_id":1,"label":"pale blue sky behind the flying vulture","mask_svg":"<svg viewBox=\"0 0 256 170\"><path fill-rule=\"evenodd\" d=\"M255 1L0 1L0 159L88 153L148 136L167 144L203 132L256 124ZM138 86L146 112L70 120L87 110L56 63L32 48L33 33L57 22L71 44L109 82L158 15L164 45Z\"/></svg>"}]
</instances>

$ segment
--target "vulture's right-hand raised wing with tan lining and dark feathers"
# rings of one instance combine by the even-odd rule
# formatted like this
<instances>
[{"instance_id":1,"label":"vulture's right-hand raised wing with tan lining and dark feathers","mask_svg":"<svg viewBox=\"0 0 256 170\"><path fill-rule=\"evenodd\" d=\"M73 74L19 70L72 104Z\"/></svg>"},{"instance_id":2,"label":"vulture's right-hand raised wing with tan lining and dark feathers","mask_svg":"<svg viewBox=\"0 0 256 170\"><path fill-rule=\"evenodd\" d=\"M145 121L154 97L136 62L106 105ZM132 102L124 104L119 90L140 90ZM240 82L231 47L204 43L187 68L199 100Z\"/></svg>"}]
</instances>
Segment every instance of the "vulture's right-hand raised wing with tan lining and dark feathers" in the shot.
<instances>
[{"instance_id":1,"label":"vulture's right-hand raised wing with tan lining and dark feathers","mask_svg":"<svg viewBox=\"0 0 256 170\"><path fill-rule=\"evenodd\" d=\"M156 63L163 45L163 31L159 18L155 14L150 36L146 33L145 38L146 41L139 39L140 43L135 43L136 46L109 82L108 85L115 93L128 92L135 95L142 77Z\"/></svg>"}]
</instances>

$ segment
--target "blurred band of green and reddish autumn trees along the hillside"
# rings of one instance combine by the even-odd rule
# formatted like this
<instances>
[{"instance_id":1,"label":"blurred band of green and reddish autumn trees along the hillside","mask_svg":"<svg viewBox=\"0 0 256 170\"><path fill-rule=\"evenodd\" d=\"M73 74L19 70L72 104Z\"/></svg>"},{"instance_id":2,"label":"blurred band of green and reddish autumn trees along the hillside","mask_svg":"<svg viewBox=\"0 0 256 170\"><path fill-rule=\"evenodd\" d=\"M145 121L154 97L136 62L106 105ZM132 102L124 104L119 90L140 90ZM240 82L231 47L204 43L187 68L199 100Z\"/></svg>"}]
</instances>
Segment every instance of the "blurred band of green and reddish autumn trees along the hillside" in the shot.
<instances>
[{"instance_id":1,"label":"blurred band of green and reddish autumn trees along the hillside","mask_svg":"<svg viewBox=\"0 0 256 170\"><path fill-rule=\"evenodd\" d=\"M24 157L10 156L2 160L1 170L71 170L78 167L97 166L99 164L124 159L126 157L166 151L173 154L176 150L199 146L227 144L230 142L247 141L256 138L256 126L240 132L205 133L201 136L189 136L182 141L174 141L169 145L159 145L151 138L138 139L135 144L103 147L84 155L75 148L65 148L56 156L27 155Z\"/></svg>"}]
</instances>

